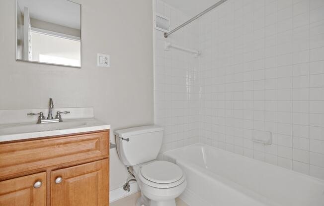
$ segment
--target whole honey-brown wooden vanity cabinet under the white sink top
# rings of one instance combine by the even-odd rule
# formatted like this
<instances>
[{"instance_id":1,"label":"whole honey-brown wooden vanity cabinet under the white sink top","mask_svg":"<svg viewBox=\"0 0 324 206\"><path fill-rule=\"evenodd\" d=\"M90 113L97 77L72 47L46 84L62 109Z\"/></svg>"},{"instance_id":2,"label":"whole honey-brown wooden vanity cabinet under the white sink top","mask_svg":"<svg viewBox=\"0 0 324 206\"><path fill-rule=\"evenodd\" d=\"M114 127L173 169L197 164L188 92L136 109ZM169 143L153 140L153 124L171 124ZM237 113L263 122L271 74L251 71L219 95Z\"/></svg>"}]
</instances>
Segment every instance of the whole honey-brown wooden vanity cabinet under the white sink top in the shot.
<instances>
[{"instance_id":1,"label":"whole honey-brown wooden vanity cabinet under the white sink top","mask_svg":"<svg viewBox=\"0 0 324 206\"><path fill-rule=\"evenodd\" d=\"M0 143L0 206L109 206L109 130Z\"/></svg>"}]
</instances>

